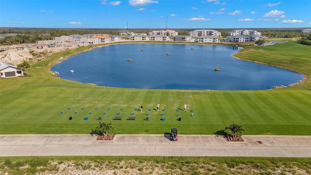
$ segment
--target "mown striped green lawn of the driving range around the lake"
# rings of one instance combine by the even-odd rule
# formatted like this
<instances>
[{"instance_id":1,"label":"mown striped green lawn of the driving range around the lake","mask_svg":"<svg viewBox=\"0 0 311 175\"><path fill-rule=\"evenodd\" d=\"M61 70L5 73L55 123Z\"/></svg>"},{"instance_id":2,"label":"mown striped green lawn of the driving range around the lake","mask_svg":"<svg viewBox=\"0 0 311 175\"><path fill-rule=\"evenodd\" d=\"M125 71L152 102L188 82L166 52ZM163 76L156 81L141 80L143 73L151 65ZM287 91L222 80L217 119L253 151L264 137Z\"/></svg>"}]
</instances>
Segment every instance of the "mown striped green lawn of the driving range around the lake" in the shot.
<instances>
[{"instance_id":1,"label":"mown striped green lawn of the driving range around the lake","mask_svg":"<svg viewBox=\"0 0 311 175\"><path fill-rule=\"evenodd\" d=\"M222 133L231 123L242 125L247 135L311 133L310 79L296 87L275 90L155 90L82 84L49 72L60 57L90 48L55 53L48 60L31 65L30 77L0 80L0 134L89 134L98 125L99 116L113 124L114 134L163 134L172 127L179 134L214 134ZM236 56L286 67L310 77L310 51L310 46L288 41L262 49L247 46ZM184 102L193 112L182 110ZM165 111L155 110L158 103ZM140 105L144 106L143 112L139 111ZM118 112L123 118L114 121ZM136 121L126 120L132 112ZM147 113L149 122L144 121ZM162 113L165 121L161 121ZM177 120L177 113L181 121ZM192 113L195 117L191 117ZM69 120L69 116L73 119Z\"/></svg>"}]
</instances>

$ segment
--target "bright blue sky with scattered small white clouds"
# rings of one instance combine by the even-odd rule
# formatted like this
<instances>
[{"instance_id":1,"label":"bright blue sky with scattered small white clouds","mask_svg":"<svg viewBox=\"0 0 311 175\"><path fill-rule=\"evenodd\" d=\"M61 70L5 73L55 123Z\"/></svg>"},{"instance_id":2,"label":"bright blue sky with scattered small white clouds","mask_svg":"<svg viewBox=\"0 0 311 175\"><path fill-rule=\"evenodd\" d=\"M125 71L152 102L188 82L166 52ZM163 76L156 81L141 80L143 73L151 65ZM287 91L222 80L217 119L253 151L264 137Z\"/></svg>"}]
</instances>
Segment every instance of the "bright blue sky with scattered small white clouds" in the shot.
<instances>
[{"instance_id":1,"label":"bright blue sky with scattered small white clouds","mask_svg":"<svg viewBox=\"0 0 311 175\"><path fill-rule=\"evenodd\" d=\"M167 20L168 19L168 20ZM0 27L311 28L311 0L1 0Z\"/></svg>"}]
</instances>

